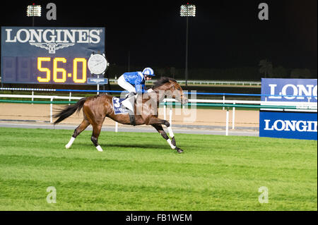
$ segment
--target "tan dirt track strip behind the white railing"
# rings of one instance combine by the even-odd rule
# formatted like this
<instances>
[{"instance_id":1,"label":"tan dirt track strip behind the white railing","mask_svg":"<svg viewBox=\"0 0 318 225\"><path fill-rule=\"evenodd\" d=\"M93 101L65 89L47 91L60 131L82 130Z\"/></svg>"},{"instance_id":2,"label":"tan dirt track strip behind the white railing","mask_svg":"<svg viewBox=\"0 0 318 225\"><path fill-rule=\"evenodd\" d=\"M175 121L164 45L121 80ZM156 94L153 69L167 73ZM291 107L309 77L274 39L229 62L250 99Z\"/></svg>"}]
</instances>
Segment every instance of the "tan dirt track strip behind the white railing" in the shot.
<instances>
[{"instance_id":1,"label":"tan dirt track strip behind the white railing","mask_svg":"<svg viewBox=\"0 0 318 225\"><path fill-rule=\"evenodd\" d=\"M53 105L54 110L61 105ZM49 104L0 104L0 121L35 121L49 122ZM159 109L159 117L163 118L163 108ZM82 114L73 114L63 123L78 124L82 121ZM172 124L196 126L225 126L226 110L221 109L173 109ZM169 121L169 109L167 118ZM232 110L229 111L230 127L232 127ZM106 118L104 125L112 126L115 122ZM259 111L235 110L235 127L258 127Z\"/></svg>"}]
</instances>

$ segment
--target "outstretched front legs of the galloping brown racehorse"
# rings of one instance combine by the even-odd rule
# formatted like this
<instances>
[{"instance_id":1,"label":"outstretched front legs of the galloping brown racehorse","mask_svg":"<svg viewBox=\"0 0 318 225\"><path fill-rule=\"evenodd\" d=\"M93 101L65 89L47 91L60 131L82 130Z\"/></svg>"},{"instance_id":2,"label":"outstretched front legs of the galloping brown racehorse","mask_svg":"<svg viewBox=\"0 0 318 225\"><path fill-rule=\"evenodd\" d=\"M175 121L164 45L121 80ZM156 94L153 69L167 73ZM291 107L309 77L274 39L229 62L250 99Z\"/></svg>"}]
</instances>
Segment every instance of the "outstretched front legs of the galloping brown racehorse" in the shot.
<instances>
[{"instance_id":1,"label":"outstretched front legs of the galloping brown racehorse","mask_svg":"<svg viewBox=\"0 0 318 225\"><path fill-rule=\"evenodd\" d=\"M172 132L172 128L170 126L170 123L168 121L162 120L160 118L152 118L149 121L149 124L151 124L151 126L153 126L158 133L160 133L160 135L163 136L163 138L165 138L165 140L167 140L168 144L170 145L170 147L172 148L172 150L177 150L177 152L182 153L183 150L179 147L177 147L176 142L175 142L175 135ZM165 126L167 126L170 138L167 136L167 133L165 133L165 130L163 130L163 126L161 124L165 124Z\"/></svg>"}]
</instances>

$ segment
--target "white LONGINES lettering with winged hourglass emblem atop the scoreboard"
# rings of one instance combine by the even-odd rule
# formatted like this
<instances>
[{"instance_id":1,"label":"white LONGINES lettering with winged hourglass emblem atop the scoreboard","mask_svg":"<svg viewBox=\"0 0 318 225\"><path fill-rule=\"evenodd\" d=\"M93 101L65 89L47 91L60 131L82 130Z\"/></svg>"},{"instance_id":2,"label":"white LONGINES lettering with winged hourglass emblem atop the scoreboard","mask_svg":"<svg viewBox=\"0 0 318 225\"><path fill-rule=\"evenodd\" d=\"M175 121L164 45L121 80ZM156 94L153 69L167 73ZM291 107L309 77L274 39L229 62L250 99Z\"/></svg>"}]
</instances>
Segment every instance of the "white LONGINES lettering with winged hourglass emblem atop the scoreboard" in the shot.
<instances>
[{"instance_id":1,"label":"white LONGINES lettering with winged hourglass emblem atop the scoreboard","mask_svg":"<svg viewBox=\"0 0 318 225\"><path fill-rule=\"evenodd\" d=\"M20 29L15 34L13 29L6 29L6 42L20 42L47 49L55 54L58 49L71 47L78 43L98 44L102 30L66 30L66 29Z\"/></svg>"}]
</instances>

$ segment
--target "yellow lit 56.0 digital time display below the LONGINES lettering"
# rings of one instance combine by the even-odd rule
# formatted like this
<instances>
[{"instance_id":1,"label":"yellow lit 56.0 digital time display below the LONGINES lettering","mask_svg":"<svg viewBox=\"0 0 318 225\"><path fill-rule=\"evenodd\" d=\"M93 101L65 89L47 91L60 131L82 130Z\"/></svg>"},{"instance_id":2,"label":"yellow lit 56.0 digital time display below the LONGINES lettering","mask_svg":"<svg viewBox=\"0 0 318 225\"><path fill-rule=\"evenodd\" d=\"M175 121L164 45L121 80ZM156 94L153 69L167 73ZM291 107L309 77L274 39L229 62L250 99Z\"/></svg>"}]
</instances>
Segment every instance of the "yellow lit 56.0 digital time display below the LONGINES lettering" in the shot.
<instances>
[{"instance_id":1,"label":"yellow lit 56.0 digital time display below the LONGINES lettering","mask_svg":"<svg viewBox=\"0 0 318 225\"><path fill-rule=\"evenodd\" d=\"M86 58L5 58L4 83L86 84L90 71Z\"/></svg>"}]
</instances>

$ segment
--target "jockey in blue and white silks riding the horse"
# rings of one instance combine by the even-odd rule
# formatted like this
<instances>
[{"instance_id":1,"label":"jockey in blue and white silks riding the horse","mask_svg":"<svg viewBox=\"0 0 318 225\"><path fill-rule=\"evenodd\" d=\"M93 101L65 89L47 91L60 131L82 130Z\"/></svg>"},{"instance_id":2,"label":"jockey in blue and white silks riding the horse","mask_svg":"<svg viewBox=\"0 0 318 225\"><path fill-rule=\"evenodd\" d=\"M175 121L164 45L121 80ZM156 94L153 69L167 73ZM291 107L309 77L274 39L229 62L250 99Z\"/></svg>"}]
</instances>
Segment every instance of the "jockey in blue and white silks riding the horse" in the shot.
<instances>
[{"instance_id":1,"label":"jockey in blue and white silks riding the horse","mask_svg":"<svg viewBox=\"0 0 318 225\"><path fill-rule=\"evenodd\" d=\"M130 109L131 111L134 111L134 95L136 94L143 94L152 92L152 89L146 90L145 82L146 80L151 80L151 78L155 76L153 73L152 68L145 68L143 71L137 71L137 72L128 72L121 75L117 83L120 87L124 88L124 90L129 91L129 94L126 95L126 99L122 101L122 104L127 109ZM131 101L133 99L133 101Z\"/></svg>"}]
</instances>

